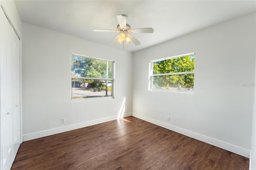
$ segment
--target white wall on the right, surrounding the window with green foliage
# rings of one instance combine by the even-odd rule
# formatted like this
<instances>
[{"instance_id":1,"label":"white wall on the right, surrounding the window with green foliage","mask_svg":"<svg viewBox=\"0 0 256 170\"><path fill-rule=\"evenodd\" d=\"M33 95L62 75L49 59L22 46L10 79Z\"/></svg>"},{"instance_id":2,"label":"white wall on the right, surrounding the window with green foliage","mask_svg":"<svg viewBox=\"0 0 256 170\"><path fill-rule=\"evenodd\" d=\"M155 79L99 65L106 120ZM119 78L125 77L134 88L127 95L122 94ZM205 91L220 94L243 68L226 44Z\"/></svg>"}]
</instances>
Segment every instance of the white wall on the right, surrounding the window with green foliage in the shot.
<instances>
[{"instance_id":1,"label":"white wall on the right, surrounding the window with green foliage","mask_svg":"<svg viewBox=\"0 0 256 170\"><path fill-rule=\"evenodd\" d=\"M135 52L132 115L249 157L254 87L243 84L254 83L255 19L251 14ZM194 94L148 91L150 60L190 52Z\"/></svg>"}]
</instances>

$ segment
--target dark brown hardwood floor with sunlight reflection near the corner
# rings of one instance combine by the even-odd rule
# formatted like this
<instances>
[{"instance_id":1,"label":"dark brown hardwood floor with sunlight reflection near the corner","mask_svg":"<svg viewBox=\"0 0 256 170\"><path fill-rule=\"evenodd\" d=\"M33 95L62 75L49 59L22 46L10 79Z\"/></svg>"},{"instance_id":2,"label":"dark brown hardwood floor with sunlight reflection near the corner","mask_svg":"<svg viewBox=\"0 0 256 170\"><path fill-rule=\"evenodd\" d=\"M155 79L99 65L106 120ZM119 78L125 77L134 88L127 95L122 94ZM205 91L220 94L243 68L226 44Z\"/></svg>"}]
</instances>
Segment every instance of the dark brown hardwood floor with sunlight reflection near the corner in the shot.
<instances>
[{"instance_id":1,"label":"dark brown hardwood floor with sunlight reflection near the corner","mask_svg":"<svg viewBox=\"0 0 256 170\"><path fill-rule=\"evenodd\" d=\"M12 170L248 170L249 159L135 117L23 142Z\"/></svg>"}]
</instances>

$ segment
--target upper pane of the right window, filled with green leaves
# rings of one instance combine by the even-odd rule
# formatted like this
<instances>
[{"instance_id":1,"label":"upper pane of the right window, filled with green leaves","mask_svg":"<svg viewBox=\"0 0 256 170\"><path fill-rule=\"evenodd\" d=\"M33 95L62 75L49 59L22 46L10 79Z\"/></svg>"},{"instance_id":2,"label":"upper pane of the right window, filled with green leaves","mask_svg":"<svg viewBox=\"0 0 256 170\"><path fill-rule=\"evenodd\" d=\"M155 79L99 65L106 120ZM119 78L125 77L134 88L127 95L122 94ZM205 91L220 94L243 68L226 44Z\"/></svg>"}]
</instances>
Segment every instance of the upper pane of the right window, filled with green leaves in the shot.
<instances>
[{"instance_id":1,"label":"upper pane of the right window, filled with green leaves","mask_svg":"<svg viewBox=\"0 0 256 170\"><path fill-rule=\"evenodd\" d=\"M194 71L195 55L166 59L153 63L153 74Z\"/></svg>"}]
</instances>

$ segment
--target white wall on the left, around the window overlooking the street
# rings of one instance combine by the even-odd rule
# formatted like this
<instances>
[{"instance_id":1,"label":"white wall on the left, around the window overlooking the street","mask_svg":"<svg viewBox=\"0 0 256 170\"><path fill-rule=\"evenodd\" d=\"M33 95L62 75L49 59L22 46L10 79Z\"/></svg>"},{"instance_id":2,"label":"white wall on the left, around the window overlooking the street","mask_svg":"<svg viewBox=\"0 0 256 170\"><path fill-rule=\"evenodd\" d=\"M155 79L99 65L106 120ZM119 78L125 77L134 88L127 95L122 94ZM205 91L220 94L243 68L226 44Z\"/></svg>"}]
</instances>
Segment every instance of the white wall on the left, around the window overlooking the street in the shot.
<instances>
[{"instance_id":1,"label":"white wall on the left, around the window overlooking the street","mask_svg":"<svg viewBox=\"0 0 256 170\"><path fill-rule=\"evenodd\" d=\"M131 115L131 53L26 23L22 37L24 141L117 119L124 98ZM71 53L115 61L115 99L71 102Z\"/></svg>"}]
</instances>

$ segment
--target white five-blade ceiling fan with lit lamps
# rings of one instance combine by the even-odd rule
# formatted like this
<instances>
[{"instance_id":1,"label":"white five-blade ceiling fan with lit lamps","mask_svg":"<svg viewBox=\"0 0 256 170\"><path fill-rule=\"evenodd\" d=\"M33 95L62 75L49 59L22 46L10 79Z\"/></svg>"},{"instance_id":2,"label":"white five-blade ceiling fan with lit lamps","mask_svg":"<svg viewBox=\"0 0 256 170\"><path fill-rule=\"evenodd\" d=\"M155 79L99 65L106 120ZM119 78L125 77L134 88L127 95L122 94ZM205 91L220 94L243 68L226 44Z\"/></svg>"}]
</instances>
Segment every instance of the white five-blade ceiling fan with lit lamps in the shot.
<instances>
[{"instance_id":1,"label":"white five-blade ceiling fan with lit lamps","mask_svg":"<svg viewBox=\"0 0 256 170\"><path fill-rule=\"evenodd\" d=\"M140 45L140 42L134 38L131 34L133 33L153 33L153 28L135 28L132 29L129 24L126 23L126 15L117 15L118 25L116 30L103 30L103 29L94 29L95 32L118 32L120 33L112 42L118 42L122 44L122 42L125 40L125 42L128 44L130 42L133 42L135 45Z\"/></svg>"}]
</instances>

